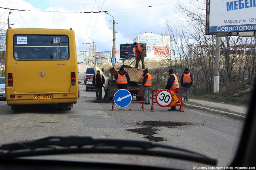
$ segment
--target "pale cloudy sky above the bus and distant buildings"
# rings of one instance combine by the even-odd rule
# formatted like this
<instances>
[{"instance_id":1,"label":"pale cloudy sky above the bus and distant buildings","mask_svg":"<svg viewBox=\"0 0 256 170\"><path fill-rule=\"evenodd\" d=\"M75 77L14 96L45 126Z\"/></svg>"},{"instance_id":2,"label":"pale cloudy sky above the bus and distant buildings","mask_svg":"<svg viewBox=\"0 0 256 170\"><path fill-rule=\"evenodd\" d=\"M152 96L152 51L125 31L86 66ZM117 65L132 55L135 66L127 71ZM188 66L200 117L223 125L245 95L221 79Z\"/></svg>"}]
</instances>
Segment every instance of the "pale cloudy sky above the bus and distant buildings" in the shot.
<instances>
[{"instance_id":1,"label":"pale cloudy sky above the bus and distant buildings","mask_svg":"<svg viewBox=\"0 0 256 170\"><path fill-rule=\"evenodd\" d=\"M78 61L83 61L81 51L89 51L93 41L96 51L112 50L113 19L116 50L119 50L120 44L133 43L133 39L144 32L165 35L166 21L175 25L181 19L176 10L177 3L193 1L195 0L1 0L0 26L4 30L8 28L5 23L11 11L9 20L10 24L14 24L10 25L12 28L72 28L75 32Z\"/></svg>"}]
</instances>

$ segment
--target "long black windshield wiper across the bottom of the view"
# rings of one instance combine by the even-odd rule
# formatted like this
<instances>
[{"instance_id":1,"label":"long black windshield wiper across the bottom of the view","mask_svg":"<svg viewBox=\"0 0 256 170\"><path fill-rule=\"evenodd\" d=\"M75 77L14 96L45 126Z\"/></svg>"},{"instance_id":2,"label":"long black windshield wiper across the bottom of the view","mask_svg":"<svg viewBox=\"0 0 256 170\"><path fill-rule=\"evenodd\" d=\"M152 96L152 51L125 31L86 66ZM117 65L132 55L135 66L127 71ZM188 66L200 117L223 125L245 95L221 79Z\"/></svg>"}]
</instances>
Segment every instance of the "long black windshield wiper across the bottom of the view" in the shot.
<instances>
[{"instance_id":1,"label":"long black windshield wiper across the bottom of the view","mask_svg":"<svg viewBox=\"0 0 256 170\"><path fill-rule=\"evenodd\" d=\"M161 150L154 150L154 148L161 148ZM149 141L52 136L35 141L0 146L1 159L68 153L123 153L184 159L210 165L217 164L217 159L212 159L203 154Z\"/></svg>"}]
</instances>

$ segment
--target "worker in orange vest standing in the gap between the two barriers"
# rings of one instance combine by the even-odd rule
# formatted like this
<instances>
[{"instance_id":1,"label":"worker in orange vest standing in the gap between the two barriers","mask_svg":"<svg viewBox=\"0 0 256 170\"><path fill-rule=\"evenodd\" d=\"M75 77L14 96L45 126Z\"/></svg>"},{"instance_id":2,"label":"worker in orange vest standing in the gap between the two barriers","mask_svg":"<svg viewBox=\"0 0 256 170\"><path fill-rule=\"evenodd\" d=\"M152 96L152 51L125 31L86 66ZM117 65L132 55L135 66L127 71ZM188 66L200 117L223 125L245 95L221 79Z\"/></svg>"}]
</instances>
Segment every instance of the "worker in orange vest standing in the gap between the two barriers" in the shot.
<instances>
[{"instance_id":1,"label":"worker in orange vest standing in the gap between the two barriers","mask_svg":"<svg viewBox=\"0 0 256 170\"><path fill-rule=\"evenodd\" d=\"M143 71L142 85L144 87L144 104L150 104L150 87L152 85L152 76L148 73L148 69L146 68Z\"/></svg>"}]
</instances>

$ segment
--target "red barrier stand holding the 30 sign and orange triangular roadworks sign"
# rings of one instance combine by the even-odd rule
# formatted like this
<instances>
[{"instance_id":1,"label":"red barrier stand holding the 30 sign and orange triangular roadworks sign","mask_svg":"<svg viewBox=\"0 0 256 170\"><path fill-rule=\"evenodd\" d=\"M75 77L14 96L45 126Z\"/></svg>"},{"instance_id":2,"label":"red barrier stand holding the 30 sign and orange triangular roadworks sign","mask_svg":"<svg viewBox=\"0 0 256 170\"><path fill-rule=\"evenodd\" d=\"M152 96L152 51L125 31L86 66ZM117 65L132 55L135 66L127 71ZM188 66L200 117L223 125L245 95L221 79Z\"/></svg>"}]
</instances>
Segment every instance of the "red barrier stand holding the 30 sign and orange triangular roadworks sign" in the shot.
<instances>
[{"instance_id":1,"label":"red barrier stand holding the 30 sign and orange triangular roadworks sign","mask_svg":"<svg viewBox=\"0 0 256 170\"><path fill-rule=\"evenodd\" d=\"M156 95L154 95L154 91L157 91ZM179 96L176 92L180 91L181 95ZM179 111L184 112L182 102L182 94L183 90L173 90L171 88L170 90L162 89L162 90L152 90L152 104L150 111L155 111L154 109L154 103L157 103L161 107L172 107L172 106L180 106ZM154 97L155 100L154 101Z\"/></svg>"}]
</instances>

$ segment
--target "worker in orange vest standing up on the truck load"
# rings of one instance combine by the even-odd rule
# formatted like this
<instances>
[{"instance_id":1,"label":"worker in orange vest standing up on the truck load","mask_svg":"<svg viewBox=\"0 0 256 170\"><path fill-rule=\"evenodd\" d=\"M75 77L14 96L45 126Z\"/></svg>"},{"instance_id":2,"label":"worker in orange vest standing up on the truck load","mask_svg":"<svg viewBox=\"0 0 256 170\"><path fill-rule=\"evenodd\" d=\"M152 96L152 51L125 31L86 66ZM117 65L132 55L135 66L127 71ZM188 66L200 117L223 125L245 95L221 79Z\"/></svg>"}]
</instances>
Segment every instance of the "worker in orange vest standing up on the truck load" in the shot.
<instances>
[{"instance_id":1,"label":"worker in orange vest standing up on the truck load","mask_svg":"<svg viewBox=\"0 0 256 170\"><path fill-rule=\"evenodd\" d=\"M142 44L137 44L136 42L133 43L133 53L136 56L136 63L135 63L135 68L139 68L139 61L141 60L141 65L142 65L142 69L145 69L145 63L144 63L144 59L146 56L146 44L142 43Z\"/></svg>"}]
</instances>

